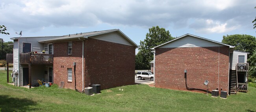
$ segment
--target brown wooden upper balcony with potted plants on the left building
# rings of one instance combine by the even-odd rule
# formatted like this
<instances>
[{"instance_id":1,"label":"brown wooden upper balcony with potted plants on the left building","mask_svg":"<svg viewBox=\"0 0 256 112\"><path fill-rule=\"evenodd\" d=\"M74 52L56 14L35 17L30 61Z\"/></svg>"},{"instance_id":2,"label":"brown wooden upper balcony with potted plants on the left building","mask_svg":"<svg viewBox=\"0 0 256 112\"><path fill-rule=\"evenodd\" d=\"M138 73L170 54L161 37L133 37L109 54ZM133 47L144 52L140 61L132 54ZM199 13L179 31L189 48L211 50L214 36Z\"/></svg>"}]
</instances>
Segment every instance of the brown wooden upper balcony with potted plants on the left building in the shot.
<instances>
[{"instance_id":1,"label":"brown wooden upper balcony with potted plants on the left building","mask_svg":"<svg viewBox=\"0 0 256 112\"><path fill-rule=\"evenodd\" d=\"M21 64L53 64L53 54L35 54L22 53L20 54Z\"/></svg>"}]
</instances>

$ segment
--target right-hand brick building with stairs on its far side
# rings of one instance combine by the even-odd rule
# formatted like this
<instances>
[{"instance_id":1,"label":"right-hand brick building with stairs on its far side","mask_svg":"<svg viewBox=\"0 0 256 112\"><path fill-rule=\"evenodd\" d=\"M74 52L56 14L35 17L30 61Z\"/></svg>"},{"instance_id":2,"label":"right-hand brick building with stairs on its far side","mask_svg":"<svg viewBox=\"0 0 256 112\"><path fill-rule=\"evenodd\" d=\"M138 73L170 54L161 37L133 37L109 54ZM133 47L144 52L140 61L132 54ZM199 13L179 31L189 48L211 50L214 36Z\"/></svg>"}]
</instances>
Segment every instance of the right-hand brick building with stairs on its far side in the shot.
<instances>
[{"instance_id":1,"label":"right-hand brick building with stairs on its far side","mask_svg":"<svg viewBox=\"0 0 256 112\"><path fill-rule=\"evenodd\" d=\"M156 46L152 50L155 60L156 87L176 90L188 90L189 88L206 90L204 81L208 80L210 82L209 90L222 88L230 92L231 66L236 66L237 63L233 62L232 64L232 60L235 59L232 57L234 46L185 34ZM245 53L243 56L247 57L247 54ZM247 58L243 60L243 63L246 61Z\"/></svg>"}]
</instances>

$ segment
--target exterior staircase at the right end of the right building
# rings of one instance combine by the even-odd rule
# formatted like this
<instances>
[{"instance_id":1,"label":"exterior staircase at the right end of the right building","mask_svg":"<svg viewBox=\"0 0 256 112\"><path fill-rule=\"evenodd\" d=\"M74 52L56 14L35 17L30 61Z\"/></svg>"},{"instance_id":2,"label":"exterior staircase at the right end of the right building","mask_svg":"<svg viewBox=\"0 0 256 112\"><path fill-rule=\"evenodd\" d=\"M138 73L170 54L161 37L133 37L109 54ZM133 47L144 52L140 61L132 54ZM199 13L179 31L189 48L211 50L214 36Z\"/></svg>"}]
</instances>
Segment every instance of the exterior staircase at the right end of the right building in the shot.
<instances>
[{"instance_id":1,"label":"exterior staircase at the right end of the right building","mask_svg":"<svg viewBox=\"0 0 256 112\"><path fill-rule=\"evenodd\" d=\"M230 79L230 94L236 94L237 93L237 73L236 70L230 70L231 72L231 79Z\"/></svg>"}]
</instances>

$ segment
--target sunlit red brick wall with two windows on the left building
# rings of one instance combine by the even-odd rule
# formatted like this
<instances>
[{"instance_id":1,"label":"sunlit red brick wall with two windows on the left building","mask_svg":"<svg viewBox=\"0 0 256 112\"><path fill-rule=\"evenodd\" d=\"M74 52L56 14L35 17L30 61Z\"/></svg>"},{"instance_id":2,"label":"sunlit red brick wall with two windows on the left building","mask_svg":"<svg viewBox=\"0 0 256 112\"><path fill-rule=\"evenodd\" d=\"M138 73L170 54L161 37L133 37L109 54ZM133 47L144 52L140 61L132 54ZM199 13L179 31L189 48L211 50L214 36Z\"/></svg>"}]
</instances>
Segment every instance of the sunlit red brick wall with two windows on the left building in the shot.
<instances>
[{"instance_id":1,"label":"sunlit red brick wall with two windows on the left building","mask_svg":"<svg viewBox=\"0 0 256 112\"><path fill-rule=\"evenodd\" d=\"M82 41L72 42L72 54L67 54L67 49L67 42L54 43L54 83L59 85L64 81L65 88L75 89L73 62L76 62L76 89L82 90ZM67 81L68 68L72 68L72 82Z\"/></svg>"}]
</instances>

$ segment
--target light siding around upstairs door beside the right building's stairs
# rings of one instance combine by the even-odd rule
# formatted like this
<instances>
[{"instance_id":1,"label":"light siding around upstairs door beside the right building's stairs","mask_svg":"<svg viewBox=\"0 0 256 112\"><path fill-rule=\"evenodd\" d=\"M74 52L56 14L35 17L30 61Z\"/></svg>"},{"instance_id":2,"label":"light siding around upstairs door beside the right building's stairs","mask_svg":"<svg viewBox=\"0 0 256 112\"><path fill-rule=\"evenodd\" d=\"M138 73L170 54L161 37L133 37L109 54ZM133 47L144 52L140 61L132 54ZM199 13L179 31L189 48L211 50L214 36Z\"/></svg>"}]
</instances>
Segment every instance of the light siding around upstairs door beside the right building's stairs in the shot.
<instances>
[{"instance_id":1,"label":"light siding around upstairs door beside the right building's stairs","mask_svg":"<svg viewBox=\"0 0 256 112\"><path fill-rule=\"evenodd\" d=\"M247 63L247 52L234 51L232 59L232 70L236 70L236 63L238 63L238 56L245 56L245 63Z\"/></svg>"}]
</instances>

